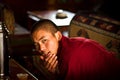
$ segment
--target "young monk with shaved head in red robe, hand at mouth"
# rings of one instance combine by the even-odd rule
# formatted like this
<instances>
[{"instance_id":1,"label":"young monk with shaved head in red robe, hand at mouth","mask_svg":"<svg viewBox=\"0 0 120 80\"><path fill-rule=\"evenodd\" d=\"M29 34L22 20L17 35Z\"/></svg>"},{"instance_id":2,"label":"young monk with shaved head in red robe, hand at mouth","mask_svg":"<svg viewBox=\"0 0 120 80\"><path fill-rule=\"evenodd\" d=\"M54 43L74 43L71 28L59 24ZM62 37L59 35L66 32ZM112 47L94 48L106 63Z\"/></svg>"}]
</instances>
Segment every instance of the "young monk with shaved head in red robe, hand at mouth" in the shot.
<instances>
[{"instance_id":1,"label":"young monk with shaved head in red robe, hand at mouth","mask_svg":"<svg viewBox=\"0 0 120 80\"><path fill-rule=\"evenodd\" d=\"M56 80L120 80L119 59L94 40L65 37L47 19L33 25L31 36Z\"/></svg>"}]
</instances>

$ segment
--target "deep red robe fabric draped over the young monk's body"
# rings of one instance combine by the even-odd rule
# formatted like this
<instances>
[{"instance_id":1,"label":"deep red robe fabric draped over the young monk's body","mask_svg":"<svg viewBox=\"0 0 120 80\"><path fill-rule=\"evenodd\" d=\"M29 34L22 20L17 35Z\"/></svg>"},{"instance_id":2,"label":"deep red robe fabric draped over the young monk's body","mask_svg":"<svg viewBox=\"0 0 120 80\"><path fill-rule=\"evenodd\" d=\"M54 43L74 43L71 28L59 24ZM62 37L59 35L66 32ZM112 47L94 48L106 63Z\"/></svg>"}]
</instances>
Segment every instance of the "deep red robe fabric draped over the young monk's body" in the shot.
<instances>
[{"instance_id":1,"label":"deep red robe fabric draped over the young monk's body","mask_svg":"<svg viewBox=\"0 0 120 80\"><path fill-rule=\"evenodd\" d=\"M62 37L58 80L120 80L120 61L99 43Z\"/></svg>"}]
</instances>

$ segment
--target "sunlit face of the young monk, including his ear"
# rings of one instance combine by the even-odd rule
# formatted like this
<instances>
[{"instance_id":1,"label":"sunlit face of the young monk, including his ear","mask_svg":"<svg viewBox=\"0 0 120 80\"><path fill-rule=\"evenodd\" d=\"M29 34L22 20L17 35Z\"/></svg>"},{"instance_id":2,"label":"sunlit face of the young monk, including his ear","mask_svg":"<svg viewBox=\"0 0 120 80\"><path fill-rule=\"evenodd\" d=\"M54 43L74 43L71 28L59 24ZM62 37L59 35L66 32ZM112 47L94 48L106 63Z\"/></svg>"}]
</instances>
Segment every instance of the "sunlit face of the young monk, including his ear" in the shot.
<instances>
[{"instance_id":1,"label":"sunlit face of the young monk, including his ear","mask_svg":"<svg viewBox=\"0 0 120 80\"><path fill-rule=\"evenodd\" d=\"M53 35L48 31L38 30L33 33L32 38L37 51L43 53L43 56L47 56L49 54L57 54L59 40L61 39L61 33L59 31Z\"/></svg>"}]
</instances>

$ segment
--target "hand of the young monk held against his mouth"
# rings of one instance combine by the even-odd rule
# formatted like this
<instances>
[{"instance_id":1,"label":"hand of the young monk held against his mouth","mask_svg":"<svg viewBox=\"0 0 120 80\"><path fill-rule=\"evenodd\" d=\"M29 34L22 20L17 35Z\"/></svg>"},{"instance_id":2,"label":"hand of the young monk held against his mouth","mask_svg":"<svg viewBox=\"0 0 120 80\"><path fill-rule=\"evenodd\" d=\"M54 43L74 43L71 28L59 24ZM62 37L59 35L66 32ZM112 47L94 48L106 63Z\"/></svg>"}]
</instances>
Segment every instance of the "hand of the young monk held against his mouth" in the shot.
<instances>
[{"instance_id":1,"label":"hand of the young monk held against his mouth","mask_svg":"<svg viewBox=\"0 0 120 80\"><path fill-rule=\"evenodd\" d=\"M57 56L54 54L48 54L47 57L41 56L40 58L44 60L44 65L48 71L55 73L58 64Z\"/></svg>"}]
</instances>

